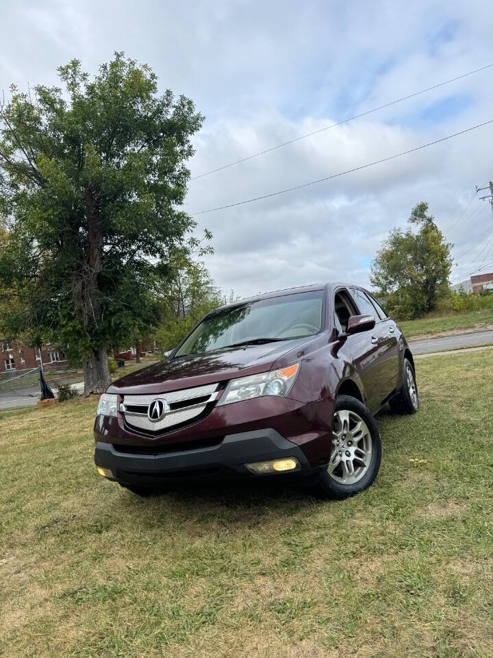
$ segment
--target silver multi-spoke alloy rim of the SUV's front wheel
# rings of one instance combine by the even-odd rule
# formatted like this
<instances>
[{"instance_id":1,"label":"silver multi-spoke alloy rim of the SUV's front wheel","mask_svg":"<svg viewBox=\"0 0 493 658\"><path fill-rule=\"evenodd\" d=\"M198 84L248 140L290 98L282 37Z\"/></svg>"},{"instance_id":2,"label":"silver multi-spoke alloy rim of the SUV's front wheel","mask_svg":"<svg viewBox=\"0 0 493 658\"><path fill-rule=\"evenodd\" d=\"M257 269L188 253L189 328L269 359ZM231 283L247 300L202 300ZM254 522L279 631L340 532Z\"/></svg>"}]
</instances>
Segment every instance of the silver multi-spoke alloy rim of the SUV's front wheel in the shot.
<instances>
[{"instance_id":1,"label":"silver multi-spoke alloy rim of the SUV's front wheel","mask_svg":"<svg viewBox=\"0 0 493 658\"><path fill-rule=\"evenodd\" d=\"M329 476L342 485L353 485L364 477L371 458L372 437L362 417L347 409L336 411Z\"/></svg>"}]
</instances>

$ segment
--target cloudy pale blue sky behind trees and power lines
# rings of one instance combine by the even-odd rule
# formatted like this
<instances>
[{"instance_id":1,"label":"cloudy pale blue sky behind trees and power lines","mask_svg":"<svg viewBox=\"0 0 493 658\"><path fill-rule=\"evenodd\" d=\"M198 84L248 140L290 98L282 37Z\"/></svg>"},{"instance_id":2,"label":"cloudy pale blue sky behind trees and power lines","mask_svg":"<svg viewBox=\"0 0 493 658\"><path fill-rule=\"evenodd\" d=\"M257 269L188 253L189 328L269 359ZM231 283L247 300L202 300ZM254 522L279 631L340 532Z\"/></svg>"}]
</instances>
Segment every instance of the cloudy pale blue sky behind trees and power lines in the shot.
<instances>
[{"instance_id":1,"label":"cloudy pale blue sky behind trees and power lines","mask_svg":"<svg viewBox=\"0 0 493 658\"><path fill-rule=\"evenodd\" d=\"M147 62L205 115L192 178L493 63L493 3L396 1L2 0L0 86L56 82L80 58ZM190 181L208 210L359 167L493 119L493 68ZM375 250L429 202L457 266L493 259L493 124L298 191L197 215L225 291L325 280L368 284ZM490 227L490 228L489 228ZM482 232L485 239L477 241ZM491 239L491 241L490 241ZM476 241L476 242L475 242Z\"/></svg>"}]
</instances>

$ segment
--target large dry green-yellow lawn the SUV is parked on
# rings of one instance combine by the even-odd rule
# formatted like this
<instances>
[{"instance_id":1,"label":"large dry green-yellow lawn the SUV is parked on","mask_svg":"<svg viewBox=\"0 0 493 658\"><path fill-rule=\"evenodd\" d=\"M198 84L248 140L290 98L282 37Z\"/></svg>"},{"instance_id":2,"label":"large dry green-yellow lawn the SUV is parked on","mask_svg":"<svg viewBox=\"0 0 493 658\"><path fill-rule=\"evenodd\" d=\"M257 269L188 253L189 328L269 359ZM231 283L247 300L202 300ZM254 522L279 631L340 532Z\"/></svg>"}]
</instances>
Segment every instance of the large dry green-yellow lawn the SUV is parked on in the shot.
<instances>
[{"instance_id":1,"label":"large dry green-yellow lawn the SUV is parked on","mask_svg":"<svg viewBox=\"0 0 493 658\"><path fill-rule=\"evenodd\" d=\"M343 502L141 500L97 476L95 398L0 414L0 655L491 658L493 351L417 368L420 413L380 415Z\"/></svg>"}]
</instances>

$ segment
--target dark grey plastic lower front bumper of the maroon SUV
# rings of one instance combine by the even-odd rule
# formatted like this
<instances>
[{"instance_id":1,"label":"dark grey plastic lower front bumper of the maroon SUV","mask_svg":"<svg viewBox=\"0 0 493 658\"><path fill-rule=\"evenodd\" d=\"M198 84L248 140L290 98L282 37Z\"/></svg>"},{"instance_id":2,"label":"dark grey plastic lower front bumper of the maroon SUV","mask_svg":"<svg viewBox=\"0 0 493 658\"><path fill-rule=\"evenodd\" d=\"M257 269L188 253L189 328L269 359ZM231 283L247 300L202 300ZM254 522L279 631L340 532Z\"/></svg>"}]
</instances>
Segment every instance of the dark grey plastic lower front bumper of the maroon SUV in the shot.
<instances>
[{"instance_id":1,"label":"dark grey plastic lower front bumper of the maroon SUV","mask_svg":"<svg viewBox=\"0 0 493 658\"><path fill-rule=\"evenodd\" d=\"M163 450L166 450L164 446L156 446L153 452L139 452L135 446L128 452L125 446L97 441L94 462L110 469L118 482L134 485L157 485L187 478L253 476L246 463L286 457L296 457L301 466L292 472L293 475L313 471L301 448L274 429L230 434L220 443L205 448L179 452Z\"/></svg>"}]
</instances>

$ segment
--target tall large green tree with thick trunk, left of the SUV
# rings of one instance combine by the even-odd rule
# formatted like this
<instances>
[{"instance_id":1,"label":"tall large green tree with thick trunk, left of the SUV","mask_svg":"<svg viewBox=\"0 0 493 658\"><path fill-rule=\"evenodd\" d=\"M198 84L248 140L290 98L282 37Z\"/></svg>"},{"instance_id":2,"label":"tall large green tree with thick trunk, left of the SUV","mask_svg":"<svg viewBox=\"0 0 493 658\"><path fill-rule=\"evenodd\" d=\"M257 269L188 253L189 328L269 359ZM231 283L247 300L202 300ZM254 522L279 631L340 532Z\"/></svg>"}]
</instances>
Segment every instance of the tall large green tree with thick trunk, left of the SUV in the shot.
<instances>
[{"instance_id":1,"label":"tall large green tree with thick trunk, left of the SUV","mask_svg":"<svg viewBox=\"0 0 493 658\"><path fill-rule=\"evenodd\" d=\"M0 106L0 289L25 304L12 332L62 341L100 392L108 347L155 322L157 268L187 248L180 206L203 117L123 53L93 78L79 60L58 73L60 88L12 87Z\"/></svg>"}]
</instances>

